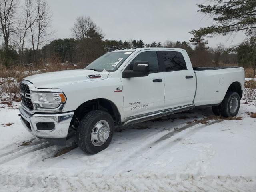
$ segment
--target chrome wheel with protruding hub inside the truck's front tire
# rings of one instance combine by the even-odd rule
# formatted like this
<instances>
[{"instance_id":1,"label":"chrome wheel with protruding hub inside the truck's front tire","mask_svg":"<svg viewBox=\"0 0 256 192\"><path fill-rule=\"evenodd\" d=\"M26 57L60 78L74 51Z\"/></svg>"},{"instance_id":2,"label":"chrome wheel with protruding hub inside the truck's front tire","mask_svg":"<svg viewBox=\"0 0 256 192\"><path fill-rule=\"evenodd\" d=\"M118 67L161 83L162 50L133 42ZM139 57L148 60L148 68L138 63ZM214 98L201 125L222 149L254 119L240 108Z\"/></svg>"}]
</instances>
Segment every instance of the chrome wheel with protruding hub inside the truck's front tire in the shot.
<instances>
[{"instance_id":1,"label":"chrome wheel with protruding hub inside the truck's front tire","mask_svg":"<svg viewBox=\"0 0 256 192\"><path fill-rule=\"evenodd\" d=\"M97 122L91 133L91 141L94 146L102 146L108 139L110 134L110 128L108 122L100 120Z\"/></svg>"}]
</instances>

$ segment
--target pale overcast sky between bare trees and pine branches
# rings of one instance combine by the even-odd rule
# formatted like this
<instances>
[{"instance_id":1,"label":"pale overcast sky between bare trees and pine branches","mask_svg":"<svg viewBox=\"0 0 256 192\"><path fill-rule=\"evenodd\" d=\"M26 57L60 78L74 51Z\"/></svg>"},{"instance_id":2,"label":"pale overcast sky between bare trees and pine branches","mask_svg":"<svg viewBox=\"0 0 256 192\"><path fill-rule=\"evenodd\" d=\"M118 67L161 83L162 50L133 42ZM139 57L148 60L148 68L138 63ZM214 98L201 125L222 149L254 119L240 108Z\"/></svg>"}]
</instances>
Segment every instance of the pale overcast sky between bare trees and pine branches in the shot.
<instances>
[{"instance_id":1,"label":"pale overcast sky between bare trees and pine branches","mask_svg":"<svg viewBox=\"0 0 256 192\"><path fill-rule=\"evenodd\" d=\"M188 32L213 24L212 19L197 12L196 4L207 0L48 0L53 12L53 38L71 38L77 16L90 16L102 29L105 39L142 39L145 43L189 41ZM207 38L215 47L236 45L243 33L233 37Z\"/></svg>"}]
</instances>

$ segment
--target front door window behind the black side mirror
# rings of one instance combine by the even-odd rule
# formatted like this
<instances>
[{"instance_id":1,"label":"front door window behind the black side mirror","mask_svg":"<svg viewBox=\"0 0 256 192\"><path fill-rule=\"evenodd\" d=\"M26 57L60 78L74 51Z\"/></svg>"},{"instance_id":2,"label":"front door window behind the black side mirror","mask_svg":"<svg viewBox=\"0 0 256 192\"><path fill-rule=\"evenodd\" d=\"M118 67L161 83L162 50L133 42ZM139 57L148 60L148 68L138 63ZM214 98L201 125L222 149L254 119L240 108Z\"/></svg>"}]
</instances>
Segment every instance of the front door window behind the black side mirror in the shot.
<instances>
[{"instance_id":1,"label":"front door window behind the black side mirror","mask_svg":"<svg viewBox=\"0 0 256 192\"><path fill-rule=\"evenodd\" d=\"M127 70L133 70L134 63L137 61L148 61L149 73L159 72L158 59L156 51L146 51L138 54L127 66Z\"/></svg>"}]
</instances>

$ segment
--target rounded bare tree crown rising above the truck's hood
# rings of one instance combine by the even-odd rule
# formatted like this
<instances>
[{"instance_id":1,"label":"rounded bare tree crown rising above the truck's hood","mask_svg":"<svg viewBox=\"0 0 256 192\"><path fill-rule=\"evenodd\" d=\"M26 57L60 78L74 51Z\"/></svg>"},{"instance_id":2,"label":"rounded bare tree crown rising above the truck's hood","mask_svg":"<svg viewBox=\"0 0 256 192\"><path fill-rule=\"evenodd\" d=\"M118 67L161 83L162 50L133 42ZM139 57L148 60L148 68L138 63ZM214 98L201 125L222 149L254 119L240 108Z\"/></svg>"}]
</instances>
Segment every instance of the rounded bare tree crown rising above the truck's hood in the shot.
<instances>
[{"instance_id":1,"label":"rounded bare tree crown rising above the truck's hood","mask_svg":"<svg viewBox=\"0 0 256 192\"><path fill-rule=\"evenodd\" d=\"M102 34L102 30L98 28L92 18L88 16L77 17L71 31L74 38L82 40L87 38L87 32L90 29L94 29L96 32L104 36Z\"/></svg>"}]
</instances>

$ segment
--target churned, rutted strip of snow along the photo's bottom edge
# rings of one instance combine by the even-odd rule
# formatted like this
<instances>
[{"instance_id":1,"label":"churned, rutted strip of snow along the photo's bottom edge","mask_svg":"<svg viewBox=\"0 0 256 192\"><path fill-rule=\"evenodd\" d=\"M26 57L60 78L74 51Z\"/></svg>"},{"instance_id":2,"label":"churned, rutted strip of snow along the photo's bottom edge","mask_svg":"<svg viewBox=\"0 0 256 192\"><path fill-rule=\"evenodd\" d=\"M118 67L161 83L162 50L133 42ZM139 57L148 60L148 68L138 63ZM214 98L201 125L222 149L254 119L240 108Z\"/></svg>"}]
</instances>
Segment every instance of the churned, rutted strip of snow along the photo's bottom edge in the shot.
<instances>
[{"instance_id":1,"label":"churned, rutted strip of snow along the photo's bottom edge","mask_svg":"<svg viewBox=\"0 0 256 192\"><path fill-rule=\"evenodd\" d=\"M255 177L243 176L204 176L138 173L120 174L115 177L96 173L72 175L66 172L4 172L0 177L0 191L197 191L197 192L252 192Z\"/></svg>"}]
</instances>

